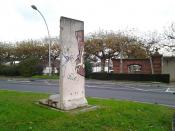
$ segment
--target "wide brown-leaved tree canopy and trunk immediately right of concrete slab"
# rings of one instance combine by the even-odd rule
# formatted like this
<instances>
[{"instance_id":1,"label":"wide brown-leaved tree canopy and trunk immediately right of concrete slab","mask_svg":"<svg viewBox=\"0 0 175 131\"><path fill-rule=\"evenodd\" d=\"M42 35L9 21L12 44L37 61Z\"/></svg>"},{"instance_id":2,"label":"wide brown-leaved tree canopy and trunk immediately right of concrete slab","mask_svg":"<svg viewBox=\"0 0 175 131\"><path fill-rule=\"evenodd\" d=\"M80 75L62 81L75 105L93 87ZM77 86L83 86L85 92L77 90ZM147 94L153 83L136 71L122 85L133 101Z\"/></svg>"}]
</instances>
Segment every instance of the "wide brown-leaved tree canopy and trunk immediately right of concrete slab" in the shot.
<instances>
[{"instance_id":1,"label":"wide brown-leaved tree canopy and trunk immediately right of concrete slab","mask_svg":"<svg viewBox=\"0 0 175 131\"><path fill-rule=\"evenodd\" d=\"M138 52L134 52L136 49L139 55ZM129 57L131 54L135 55L135 57L145 57L145 51L143 50L144 48L141 48L141 44L138 43L136 38L124 35L122 32L99 31L98 33L92 33L85 42L86 58L94 59L95 56L100 59L102 72L104 71L106 60L109 62L111 58L118 58L119 55Z\"/></svg>"}]
</instances>

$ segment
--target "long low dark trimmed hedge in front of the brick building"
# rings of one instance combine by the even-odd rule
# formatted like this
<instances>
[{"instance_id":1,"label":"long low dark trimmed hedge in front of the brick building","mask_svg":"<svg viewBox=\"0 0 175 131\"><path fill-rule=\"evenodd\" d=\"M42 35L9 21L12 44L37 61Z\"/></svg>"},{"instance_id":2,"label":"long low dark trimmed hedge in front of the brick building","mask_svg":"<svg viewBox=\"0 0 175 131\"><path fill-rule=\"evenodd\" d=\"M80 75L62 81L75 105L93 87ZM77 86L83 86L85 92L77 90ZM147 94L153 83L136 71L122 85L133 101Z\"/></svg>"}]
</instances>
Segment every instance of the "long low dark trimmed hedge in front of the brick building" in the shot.
<instances>
[{"instance_id":1,"label":"long low dark trimmed hedge in front of the brick building","mask_svg":"<svg viewBox=\"0 0 175 131\"><path fill-rule=\"evenodd\" d=\"M98 80L129 80L129 81L156 81L170 82L169 74L115 74L115 73L91 73L89 78Z\"/></svg>"}]
</instances>

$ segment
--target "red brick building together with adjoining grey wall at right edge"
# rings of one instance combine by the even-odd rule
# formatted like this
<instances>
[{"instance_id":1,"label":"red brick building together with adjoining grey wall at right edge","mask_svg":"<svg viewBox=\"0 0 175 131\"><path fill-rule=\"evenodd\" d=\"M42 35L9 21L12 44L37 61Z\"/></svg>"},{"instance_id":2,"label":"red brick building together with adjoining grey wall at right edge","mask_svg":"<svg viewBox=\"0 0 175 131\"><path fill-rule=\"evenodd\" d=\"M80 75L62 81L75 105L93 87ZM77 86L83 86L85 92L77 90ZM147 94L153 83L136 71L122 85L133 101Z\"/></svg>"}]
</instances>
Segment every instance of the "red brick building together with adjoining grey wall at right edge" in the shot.
<instances>
[{"instance_id":1,"label":"red brick building together with adjoining grey wall at right edge","mask_svg":"<svg viewBox=\"0 0 175 131\"><path fill-rule=\"evenodd\" d=\"M151 59L112 59L112 62L114 73L169 74L170 81L175 81L175 57L157 53Z\"/></svg>"}]
</instances>

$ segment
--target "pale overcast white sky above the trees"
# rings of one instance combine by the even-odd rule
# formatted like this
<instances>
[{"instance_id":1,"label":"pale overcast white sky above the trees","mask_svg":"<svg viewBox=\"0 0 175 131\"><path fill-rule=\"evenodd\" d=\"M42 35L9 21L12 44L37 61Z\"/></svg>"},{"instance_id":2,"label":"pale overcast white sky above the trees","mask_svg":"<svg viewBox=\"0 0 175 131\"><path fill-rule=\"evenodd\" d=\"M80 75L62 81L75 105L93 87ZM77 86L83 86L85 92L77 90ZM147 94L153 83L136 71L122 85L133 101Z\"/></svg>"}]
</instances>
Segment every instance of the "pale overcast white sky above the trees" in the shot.
<instances>
[{"instance_id":1,"label":"pale overcast white sky above the trees","mask_svg":"<svg viewBox=\"0 0 175 131\"><path fill-rule=\"evenodd\" d=\"M85 34L98 30L162 32L175 22L175 0L1 0L0 41L47 37L37 8L52 37L59 36L60 16L85 23Z\"/></svg>"}]
</instances>

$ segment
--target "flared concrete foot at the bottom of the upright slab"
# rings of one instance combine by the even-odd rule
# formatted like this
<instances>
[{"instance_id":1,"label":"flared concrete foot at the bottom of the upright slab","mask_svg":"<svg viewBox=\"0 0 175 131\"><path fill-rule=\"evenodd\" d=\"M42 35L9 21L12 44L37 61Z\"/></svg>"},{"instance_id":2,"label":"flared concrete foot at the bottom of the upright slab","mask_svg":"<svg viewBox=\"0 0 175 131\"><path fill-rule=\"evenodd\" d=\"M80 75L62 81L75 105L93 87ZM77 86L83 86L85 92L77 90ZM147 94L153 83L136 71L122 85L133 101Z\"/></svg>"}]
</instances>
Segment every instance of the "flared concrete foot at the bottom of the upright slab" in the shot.
<instances>
[{"instance_id":1,"label":"flared concrete foot at the bottom of the upright slab","mask_svg":"<svg viewBox=\"0 0 175 131\"><path fill-rule=\"evenodd\" d=\"M65 111L88 106L86 98L61 102L59 94L51 95L48 99L39 100L39 104Z\"/></svg>"}]
</instances>

